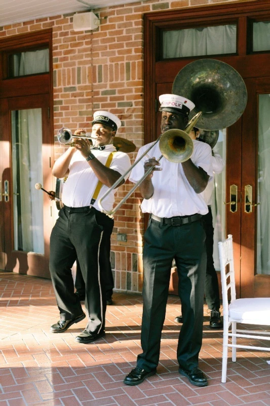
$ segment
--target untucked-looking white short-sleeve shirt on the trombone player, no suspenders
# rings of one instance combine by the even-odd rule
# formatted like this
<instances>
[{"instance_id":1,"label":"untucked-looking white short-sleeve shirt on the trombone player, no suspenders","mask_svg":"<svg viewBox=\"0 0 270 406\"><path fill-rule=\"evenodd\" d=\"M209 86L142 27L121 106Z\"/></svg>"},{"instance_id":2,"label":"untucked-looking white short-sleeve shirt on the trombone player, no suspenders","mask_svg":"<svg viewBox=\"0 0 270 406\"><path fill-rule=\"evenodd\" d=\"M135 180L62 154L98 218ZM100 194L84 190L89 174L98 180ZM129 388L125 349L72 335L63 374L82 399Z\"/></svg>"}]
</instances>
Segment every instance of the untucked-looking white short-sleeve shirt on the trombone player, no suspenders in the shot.
<instances>
[{"instance_id":1,"label":"untucked-looking white short-sleeve shirt on the trombone player, no suspenders","mask_svg":"<svg viewBox=\"0 0 270 406\"><path fill-rule=\"evenodd\" d=\"M200 166L210 176L212 170L212 152L208 144L194 140L194 151L191 160L196 166ZM153 143L151 143L153 144ZM138 151L138 159L151 144L144 145ZM150 157L158 159L162 154L157 143L149 152ZM145 156L132 169L130 181L137 183L144 174ZM162 171L153 172L152 184L154 192L149 199L143 199L141 210L143 213L151 213L159 217L187 216L196 213L207 214L208 207L201 194L197 194L190 186L183 171L181 163L174 163L166 158L160 161Z\"/></svg>"}]
</instances>

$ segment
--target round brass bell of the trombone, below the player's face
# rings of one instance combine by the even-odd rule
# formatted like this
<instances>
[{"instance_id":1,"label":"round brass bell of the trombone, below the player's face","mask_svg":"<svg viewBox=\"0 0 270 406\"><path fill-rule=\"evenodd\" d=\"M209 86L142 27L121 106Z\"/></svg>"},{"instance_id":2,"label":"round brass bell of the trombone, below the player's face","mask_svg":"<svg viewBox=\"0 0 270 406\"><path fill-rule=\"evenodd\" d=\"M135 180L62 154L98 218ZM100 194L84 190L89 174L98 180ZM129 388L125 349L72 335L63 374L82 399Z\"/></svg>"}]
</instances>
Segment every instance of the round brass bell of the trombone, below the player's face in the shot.
<instances>
[{"instance_id":1,"label":"round brass bell of the trombone, below the player's face","mask_svg":"<svg viewBox=\"0 0 270 406\"><path fill-rule=\"evenodd\" d=\"M160 139L162 155L171 162L185 162L190 158L194 149L189 135L179 129L165 131Z\"/></svg>"}]
</instances>

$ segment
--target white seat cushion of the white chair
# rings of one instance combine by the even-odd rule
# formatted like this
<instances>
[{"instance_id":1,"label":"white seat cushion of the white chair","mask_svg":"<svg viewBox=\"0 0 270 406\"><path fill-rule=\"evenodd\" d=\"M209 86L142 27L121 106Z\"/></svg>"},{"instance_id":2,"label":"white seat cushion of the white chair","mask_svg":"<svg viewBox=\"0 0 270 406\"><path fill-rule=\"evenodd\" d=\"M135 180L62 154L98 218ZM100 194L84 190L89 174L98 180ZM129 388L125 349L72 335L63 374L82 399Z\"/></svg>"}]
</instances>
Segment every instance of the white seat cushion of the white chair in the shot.
<instances>
[{"instance_id":1,"label":"white seat cushion of the white chair","mask_svg":"<svg viewBox=\"0 0 270 406\"><path fill-rule=\"evenodd\" d=\"M229 319L241 323L270 325L270 298L234 300L229 304Z\"/></svg>"}]
</instances>

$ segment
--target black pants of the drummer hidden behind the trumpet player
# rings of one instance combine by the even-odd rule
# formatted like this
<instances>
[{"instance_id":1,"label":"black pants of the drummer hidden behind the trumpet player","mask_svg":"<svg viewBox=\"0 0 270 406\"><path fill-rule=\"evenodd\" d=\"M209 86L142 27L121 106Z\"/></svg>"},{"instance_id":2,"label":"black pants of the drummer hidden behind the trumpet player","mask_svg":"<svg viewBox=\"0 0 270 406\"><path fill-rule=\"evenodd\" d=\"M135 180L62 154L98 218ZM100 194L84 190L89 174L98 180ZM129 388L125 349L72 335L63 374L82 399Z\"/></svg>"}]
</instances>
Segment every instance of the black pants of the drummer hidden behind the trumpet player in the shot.
<instances>
[{"instance_id":1,"label":"black pants of the drummer hidden behind the trumpet player","mask_svg":"<svg viewBox=\"0 0 270 406\"><path fill-rule=\"evenodd\" d=\"M104 227L99 254L99 267L105 281L106 298L110 299L114 287L113 275L110 265L110 236L112 233L114 221L112 220L109 227ZM80 295L85 295L85 281L81 271L80 263L76 260L77 269L75 276L75 288Z\"/></svg>"}]
</instances>

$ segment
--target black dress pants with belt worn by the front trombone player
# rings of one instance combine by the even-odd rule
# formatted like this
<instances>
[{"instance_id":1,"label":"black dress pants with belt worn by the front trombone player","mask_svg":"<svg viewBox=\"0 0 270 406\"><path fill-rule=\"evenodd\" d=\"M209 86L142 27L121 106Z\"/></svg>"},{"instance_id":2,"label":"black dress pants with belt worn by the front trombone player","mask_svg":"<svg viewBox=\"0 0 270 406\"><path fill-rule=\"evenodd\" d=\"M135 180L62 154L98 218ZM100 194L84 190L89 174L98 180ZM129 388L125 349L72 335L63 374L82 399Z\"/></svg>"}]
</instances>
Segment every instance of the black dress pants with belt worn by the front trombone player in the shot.
<instances>
[{"instance_id":1,"label":"black dress pants with belt worn by the front trombone player","mask_svg":"<svg viewBox=\"0 0 270 406\"><path fill-rule=\"evenodd\" d=\"M190 370L198 366L203 335L206 249L202 221L172 226L150 218L144 240L143 352L138 355L137 365L147 371L158 366L171 264L175 258L183 309L177 360L182 368Z\"/></svg>"}]
</instances>

